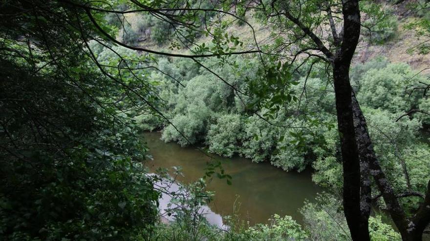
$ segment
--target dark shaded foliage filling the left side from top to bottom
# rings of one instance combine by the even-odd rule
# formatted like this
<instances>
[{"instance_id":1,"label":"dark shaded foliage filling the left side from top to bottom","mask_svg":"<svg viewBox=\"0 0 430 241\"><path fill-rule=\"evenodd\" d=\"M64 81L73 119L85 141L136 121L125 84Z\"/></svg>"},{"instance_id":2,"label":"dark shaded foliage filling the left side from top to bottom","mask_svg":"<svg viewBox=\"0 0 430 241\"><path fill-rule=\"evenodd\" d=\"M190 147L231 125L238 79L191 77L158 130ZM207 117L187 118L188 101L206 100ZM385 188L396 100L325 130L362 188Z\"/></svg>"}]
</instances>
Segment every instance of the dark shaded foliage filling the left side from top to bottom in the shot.
<instances>
[{"instance_id":1,"label":"dark shaded foliage filling the left side from top to bottom","mask_svg":"<svg viewBox=\"0 0 430 241\"><path fill-rule=\"evenodd\" d=\"M82 11L16 1L1 12L1 239L130 240L151 230L159 193L132 119L146 105L137 100L151 99L145 83L98 68L96 55L125 63L84 47L78 30L93 27Z\"/></svg>"}]
</instances>

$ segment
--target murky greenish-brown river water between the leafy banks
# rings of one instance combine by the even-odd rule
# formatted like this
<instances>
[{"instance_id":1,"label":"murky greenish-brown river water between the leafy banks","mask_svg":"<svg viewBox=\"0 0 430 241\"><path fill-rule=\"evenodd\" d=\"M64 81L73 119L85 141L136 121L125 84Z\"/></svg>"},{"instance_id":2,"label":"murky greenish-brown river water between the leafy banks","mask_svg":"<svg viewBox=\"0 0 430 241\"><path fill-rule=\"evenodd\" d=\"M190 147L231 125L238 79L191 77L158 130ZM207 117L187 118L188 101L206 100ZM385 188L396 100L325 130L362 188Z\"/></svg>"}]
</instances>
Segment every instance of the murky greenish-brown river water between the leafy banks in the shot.
<instances>
[{"instance_id":1,"label":"murky greenish-brown river water between the leafy banks","mask_svg":"<svg viewBox=\"0 0 430 241\"><path fill-rule=\"evenodd\" d=\"M210 160L196 148L181 148L175 143L164 143L160 133L144 134L153 161L148 166L153 171L158 167L181 166L185 177L182 183L196 181L204 175L204 168ZM215 191L214 201L209 207L213 211L209 219L218 224L221 216L231 215L233 207L240 204L239 216L251 224L267 222L273 214L290 215L298 222L302 217L298 209L307 199L313 201L317 192L321 191L311 180L309 171L285 172L269 163L252 163L250 160L234 157L220 158L225 172L232 176L232 185L225 179L214 177L208 189Z\"/></svg>"}]
</instances>

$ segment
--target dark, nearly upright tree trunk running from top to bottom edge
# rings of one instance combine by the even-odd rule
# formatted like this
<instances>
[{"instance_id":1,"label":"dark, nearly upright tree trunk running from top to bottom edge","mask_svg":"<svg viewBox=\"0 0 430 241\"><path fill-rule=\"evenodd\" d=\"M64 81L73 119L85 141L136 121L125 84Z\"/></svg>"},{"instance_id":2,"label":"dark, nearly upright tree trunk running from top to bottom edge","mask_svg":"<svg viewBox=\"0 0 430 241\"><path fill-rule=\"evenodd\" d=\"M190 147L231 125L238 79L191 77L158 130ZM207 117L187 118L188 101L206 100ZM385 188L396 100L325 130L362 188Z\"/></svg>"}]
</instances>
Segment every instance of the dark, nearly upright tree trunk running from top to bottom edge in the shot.
<instances>
[{"instance_id":1,"label":"dark, nearly upright tree trunk running from top to bottom edge","mask_svg":"<svg viewBox=\"0 0 430 241\"><path fill-rule=\"evenodd\" d=\"M360 9L358 0L345 0L342 4L344 35L332 61L344 169L344 213L352 240L370 241L368 212L362 212L361 208L360 158L354 128L352 89L349 82L349 67L360 37Z\"/></svg>"}]
</instances>

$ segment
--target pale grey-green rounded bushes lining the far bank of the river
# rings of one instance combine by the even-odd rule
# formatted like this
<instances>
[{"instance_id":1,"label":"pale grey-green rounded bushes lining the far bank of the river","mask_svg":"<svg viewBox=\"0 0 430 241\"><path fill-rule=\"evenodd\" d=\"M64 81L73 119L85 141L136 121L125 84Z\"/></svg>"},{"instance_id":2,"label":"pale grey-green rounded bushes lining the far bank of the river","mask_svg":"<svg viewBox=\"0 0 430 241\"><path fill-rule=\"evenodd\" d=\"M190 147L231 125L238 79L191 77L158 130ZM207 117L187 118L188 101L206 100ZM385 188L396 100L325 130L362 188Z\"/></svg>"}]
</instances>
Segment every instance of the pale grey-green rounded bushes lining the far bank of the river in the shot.
<instances>
[{"instance_id":1,"label":"pale grey-green rounded bushes lining the far bank of the river","mask_svg":"<svg viewBox=\"0 0 430 241\"><path fill-rule=\"evenodd\" d=\"M252 61L237 57L236 68L227 65L215 67L214 70L237 90L246 90L247 74L253 70L244 71L244 68ZM182 61L170 63L161 59L159 62L162 63L163 70L170 72L184 66L181 64ZM208 60L205 64L211 65L211 61ZM236 73L233 72L235 69ZM382 141L384 134L390 132L385 127L396 126L398 132L405 136L402 138L410 140L409 147L417 143L420 135L417 131L422 128L422 123L426 123L427 115L415 112L411 113L410 117L406 116L395 122L397 117L409 110L427 108L429 100L423 98L419 91L412 91L411 87L419 86L420 82L425 80L425 76L415 74L408 65L391 64L385 59L375 59L369 64L359 64L353 68L351 77L360 103L366 107L364 111L366 117L370 118L369 122L373 125L374 118L375 120L385 118L385 124L375 123L375 126L369 127L372 138ZM338 144L333 125L335 116L332 114L334 95L331 85L324 79L305 80L299 77L300 84L293 87L292 91L300 93L306 82L306 92L301 95L301 103L293 102L285 110L279 111L275 119L267 121L261 118L265 113L264 109L258 111L260 116L249 113L249 110L244 108L251 101L249 98L235 92L203 68L200 69L200 74L194 72L191 76L176 75L176 77L185 88L179 88L177 93L170 93L168 108L164 111L166 115L172 116L172 124L186 138L173 126L167 125L164 126L163 140L176 141L182 146L205 144L210 152L221 156L231 157L238 154L255 162L272 162L273 165L285 170L302 170L313 161L323 161L327 158L337 162ZM175 85L166 77L162 78L161 82L167 86L166 89ZM373 94L375 91L378 94ZM410 97L405 93L410 93ZM315 114L312 116L309 113ZM285 123L292 124L283 127L286 126ZM305 128L295 130L294 125ZM396 143L398 141L395 140ZM383 146L382 143L376 144L376 149ZM401 149L404 148L406 145ZM314 165L322 167L317 163Z\"/></svg>"}]
</instances>

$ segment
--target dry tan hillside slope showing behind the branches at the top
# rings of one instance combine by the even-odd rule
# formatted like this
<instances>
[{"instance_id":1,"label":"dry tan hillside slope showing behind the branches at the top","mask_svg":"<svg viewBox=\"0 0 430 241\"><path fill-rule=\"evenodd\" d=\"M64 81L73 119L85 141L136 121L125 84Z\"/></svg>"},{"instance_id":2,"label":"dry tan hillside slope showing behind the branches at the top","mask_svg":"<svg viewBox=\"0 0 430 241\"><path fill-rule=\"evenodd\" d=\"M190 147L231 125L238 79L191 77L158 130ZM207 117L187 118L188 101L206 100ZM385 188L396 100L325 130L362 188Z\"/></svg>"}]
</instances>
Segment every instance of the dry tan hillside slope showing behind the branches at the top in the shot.
<instances>
[{"instance_id":1,"label":"dry tan hillside slope showing behind the branches at the top","mask_svg":"<svg viewBox=\"0 0 430 241\"><path fill-rule=\"evenodd\" d=\"M362 37L359 46L357 46L356 55L354 57L354 63L364 63L375 57L386 57L388 61L392 63L407 63L413 69L422 71L423 74L430 73L430 54L428 51L420 52L416 47L421 45L423 42L428 41L428 36L418 36L415 30L408 29L406 25L413 21L415 17L405 16L405 4L400 6L392 6L394 9L393 15L397 19L397 26L394 36L384 41L383 44L372 43L365 37ZM136 14L129 14L126 17L127 21L131 25L132 29L136 32L142 33L145 36L145 41L137 41L136 45L148 49L162 49L165 52L171 53L188 53L186 47L181 47L179 50L176 48L171 49L171 43L158 44L150 36L145 35L145 31L138 30L138 26L145 29L147 32L151 32L148 26L142 26L136 23L142 21L142 17ZM256 34L256 39L259 45L271 44L274 42L274 37L271 36L270 28L263 26L259 21L254 19L251 14L246 15L246 21L253 26ZM226 21L231 21L232 17L225 17ZM362 28L362 32L366 32L365 28ZM226 29L226 33L229 35L234 34L244 42L244 46L248 49L255 47L255 40L250 27L247 24L231 24ZM203 42L211 41L210 37L199 37L195 40L195 43L201 44ZM427 47L427 45L425 45ZM246 48L243 48L246 49Z\"/></svg>"}]
</instances>

